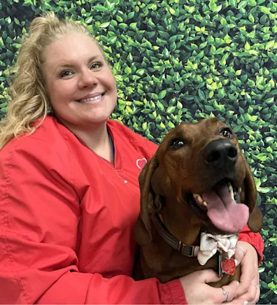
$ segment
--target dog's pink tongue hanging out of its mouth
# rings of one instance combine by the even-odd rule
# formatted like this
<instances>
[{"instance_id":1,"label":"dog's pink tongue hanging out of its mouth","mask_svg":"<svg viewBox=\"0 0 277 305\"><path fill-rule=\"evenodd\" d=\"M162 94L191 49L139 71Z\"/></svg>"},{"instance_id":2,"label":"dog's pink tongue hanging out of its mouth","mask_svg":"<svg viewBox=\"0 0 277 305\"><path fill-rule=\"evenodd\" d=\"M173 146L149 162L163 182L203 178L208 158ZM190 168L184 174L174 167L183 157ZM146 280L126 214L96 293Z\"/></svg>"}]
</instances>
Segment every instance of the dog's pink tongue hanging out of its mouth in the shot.
<instances>
[{"instance_id":1,"label":"dog's pink tongue hanging out of its mouth","mask_svg":"<svg viewBox=\"0 0 277 305\"><path fill-rule=\"evenodd\" d=\"M237 204L229 194L226 184L220 185L215 191L201 194L208 204L207 215L213 225L225 232L239 232L246 226L249 209L245 204Z\"/></svg>"}]
</instances>

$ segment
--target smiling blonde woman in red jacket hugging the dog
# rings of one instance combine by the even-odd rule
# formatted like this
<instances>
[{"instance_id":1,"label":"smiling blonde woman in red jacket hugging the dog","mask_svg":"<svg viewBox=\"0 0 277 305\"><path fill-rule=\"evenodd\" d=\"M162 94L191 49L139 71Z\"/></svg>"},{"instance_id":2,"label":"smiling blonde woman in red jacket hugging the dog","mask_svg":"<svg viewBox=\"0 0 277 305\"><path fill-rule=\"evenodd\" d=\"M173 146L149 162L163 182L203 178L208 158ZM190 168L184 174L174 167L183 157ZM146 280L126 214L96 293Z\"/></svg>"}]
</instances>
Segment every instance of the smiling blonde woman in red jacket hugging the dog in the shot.
<instances>
[{"instance_id":1,"label":"smiling blonde woman in red jacket hugging the dog","mask_svg":"<svg viewBox=\"0 0 277 305\"><path fill-rule=\"evenodd\" d=\"M263 245L247 228L239 285L211 288L211 270L166 284L131 278L139 162L157 146L108 120L115 80L85 27L52 13L34 19L11 92L0 137L0 303L257 302Z\"/></svg>"}]
</instances>

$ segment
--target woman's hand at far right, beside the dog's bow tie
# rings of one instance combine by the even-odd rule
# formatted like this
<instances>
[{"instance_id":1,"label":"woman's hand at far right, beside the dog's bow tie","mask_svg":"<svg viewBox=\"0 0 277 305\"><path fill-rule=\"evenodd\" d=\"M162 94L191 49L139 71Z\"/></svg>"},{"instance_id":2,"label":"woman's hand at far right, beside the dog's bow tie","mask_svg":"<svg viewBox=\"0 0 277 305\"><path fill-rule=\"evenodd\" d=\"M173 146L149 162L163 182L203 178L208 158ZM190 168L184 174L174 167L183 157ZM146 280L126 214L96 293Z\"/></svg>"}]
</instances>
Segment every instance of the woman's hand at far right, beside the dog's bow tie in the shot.
<instances>
[{"instance_id":1,"label":"woman's hand at far right, beside the dog's bow tie","mask_svg":"<svg viewBox=\"0 0 277 305\"><path fill-rule=\"evenodd\" d=\"M230 304L256 304L260 299L257 252L250 243L238 241L235 257L241 264L241 278L236 296Z\"/></svg>"}]
</instances>

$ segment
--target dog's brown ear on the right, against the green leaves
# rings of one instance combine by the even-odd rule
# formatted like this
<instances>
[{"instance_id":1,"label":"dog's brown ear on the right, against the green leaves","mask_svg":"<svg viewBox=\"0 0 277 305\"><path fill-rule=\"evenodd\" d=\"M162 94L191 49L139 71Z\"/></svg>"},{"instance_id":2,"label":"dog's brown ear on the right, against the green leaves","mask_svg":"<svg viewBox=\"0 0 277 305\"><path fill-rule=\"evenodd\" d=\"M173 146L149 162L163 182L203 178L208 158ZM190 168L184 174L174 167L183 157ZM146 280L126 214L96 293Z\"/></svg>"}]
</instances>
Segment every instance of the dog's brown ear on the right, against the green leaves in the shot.
<instances>
[{"instance_id":1,"label":"dog's brown ear on the right, against the green leaves","mask_svg":"<svg viewBox=\"0 0 277 305\"><path fill-rule=\"evenodd\" d=\"M244 157L244 156L243 156ZM262 211L257 207L257 188L255 185L254 177L251 173L250 166L246 162L246 178L244 180L244 203L249 208L248 227L252 232L260 232L262 229Z\"/></svg>"}]
</instances>

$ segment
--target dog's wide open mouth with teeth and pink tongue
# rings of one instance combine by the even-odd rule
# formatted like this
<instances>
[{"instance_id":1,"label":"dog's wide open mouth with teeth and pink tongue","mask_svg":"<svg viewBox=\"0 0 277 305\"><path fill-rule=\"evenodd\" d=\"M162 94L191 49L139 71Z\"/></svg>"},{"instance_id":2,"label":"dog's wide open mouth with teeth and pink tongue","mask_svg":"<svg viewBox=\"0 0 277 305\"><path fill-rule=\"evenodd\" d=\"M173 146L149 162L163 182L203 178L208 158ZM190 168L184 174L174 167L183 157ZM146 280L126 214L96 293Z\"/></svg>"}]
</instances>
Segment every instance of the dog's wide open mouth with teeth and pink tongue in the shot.
<instances>
[{"instance_id":1,"label":"dog's wide open mouth with teeth and pink tongue","mask_svg":"<svg viewBox=\"0 0 277 305\"><path fill-rule=\"evenodd\" d=\"M190 204L202 219L211 220L223 232L239 232L248 222L248 206L241 204L240 188L221 180L209 192L190 194Z\"/></svg>"}]
</instances>

